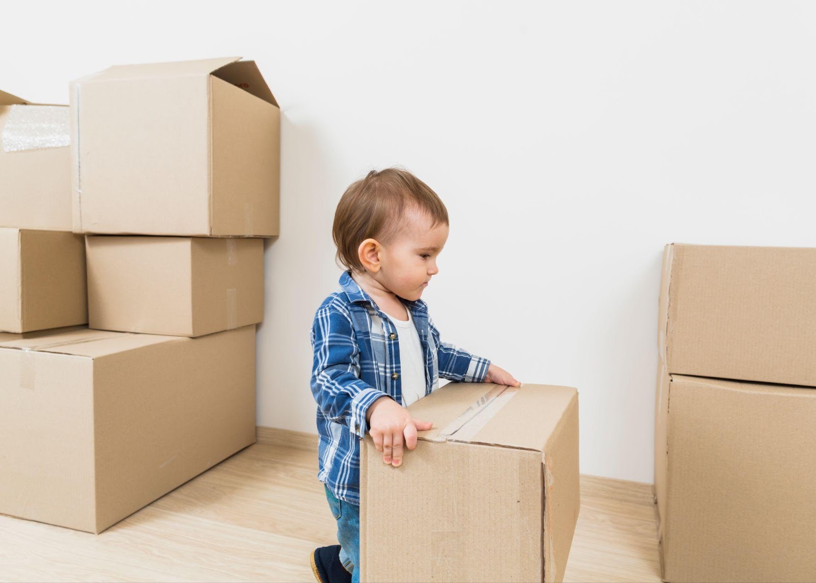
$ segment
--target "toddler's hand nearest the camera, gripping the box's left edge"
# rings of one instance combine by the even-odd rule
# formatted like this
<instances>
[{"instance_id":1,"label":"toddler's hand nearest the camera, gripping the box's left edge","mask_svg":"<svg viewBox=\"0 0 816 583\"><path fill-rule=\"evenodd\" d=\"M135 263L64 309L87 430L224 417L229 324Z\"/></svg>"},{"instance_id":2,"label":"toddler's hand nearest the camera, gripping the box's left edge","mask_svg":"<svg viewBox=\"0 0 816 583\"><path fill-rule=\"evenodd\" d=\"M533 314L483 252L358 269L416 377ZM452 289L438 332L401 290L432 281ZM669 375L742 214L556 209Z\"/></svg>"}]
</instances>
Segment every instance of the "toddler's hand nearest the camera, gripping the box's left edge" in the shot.
<instances>
[{"instance_id":1,"label":"toddler's hand nearest the camera, gripping the box's left edge","mask_svg":"<svg viewBox=\"0 0 816 583\"><path fill-rule=\"evenodd\" d=\"M402 463L403 446L416 447L416 432L431 429L429 421L419 421L410 416L405 407L390 397L380 397L366 411L368 432L374 439L383 461L395 468Z\"/></svg>"}]
</instances>

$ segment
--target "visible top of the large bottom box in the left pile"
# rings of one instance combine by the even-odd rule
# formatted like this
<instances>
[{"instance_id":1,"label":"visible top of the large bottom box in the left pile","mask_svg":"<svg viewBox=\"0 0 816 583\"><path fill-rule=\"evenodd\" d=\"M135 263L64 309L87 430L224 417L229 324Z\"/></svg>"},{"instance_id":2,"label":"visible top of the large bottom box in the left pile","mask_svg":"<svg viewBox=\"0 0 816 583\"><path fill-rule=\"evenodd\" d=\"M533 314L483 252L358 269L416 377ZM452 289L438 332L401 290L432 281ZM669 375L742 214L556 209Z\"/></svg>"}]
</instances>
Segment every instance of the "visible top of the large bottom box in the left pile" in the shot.
<instances>
[{"instance_id":1,"label":"visible top of the large bottom box in the left pile","mask_svg":"<svg viewBox=\"0 0 816 583\"><path fill-rule=\"evenodd\" d=\"M184 340L189 339L180 336L108 332L80 327L64 329L59 332L43 331L42 335L32 335L13 340L0 339L0 349L31 350L34 352L99 358L143 346Z\"/></svg>"}]
</instances>

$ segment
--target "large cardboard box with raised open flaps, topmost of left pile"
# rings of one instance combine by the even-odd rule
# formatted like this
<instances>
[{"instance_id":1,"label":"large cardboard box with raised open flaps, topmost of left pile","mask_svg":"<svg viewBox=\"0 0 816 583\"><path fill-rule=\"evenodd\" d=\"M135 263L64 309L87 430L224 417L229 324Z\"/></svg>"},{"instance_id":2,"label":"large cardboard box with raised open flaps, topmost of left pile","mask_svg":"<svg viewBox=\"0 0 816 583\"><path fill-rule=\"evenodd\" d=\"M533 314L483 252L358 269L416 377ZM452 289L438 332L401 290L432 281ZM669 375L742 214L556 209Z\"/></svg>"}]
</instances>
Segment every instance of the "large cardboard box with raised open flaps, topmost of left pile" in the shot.
<instances>
[{"instance_id":1,"label":"large cardboard box with raised open flaps, topmost of left pile","mask_svg":"<svg viewBox=\"0 0 816 583\"><path fill-rule=\"evenodd\" d=\"M239 59L121 65L71 84L75 232L278 234L281 112Z\"/></svg>"}]
</instances>

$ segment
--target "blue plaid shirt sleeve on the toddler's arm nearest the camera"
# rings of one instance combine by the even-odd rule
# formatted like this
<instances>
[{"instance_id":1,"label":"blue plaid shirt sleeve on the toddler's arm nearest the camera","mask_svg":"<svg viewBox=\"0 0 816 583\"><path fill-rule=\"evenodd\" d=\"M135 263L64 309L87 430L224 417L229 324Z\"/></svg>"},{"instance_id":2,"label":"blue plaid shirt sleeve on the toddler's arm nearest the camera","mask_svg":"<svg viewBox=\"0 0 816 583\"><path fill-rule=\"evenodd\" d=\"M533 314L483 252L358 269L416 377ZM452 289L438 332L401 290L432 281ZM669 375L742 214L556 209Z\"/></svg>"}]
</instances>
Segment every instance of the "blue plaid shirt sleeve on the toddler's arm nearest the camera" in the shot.
<instances>
[{"instance_id":1,"label":"blue plaid shirt sleeve on the toddler's arm nearest the camera","mask_svg":"<svg viewBox=\"0 0 816 583\"><path fill-rule=\"evenodd\" d=\"M327 304L317 310L312 325L312 394L317 407L334 421L365 436L371 403L388 396L360 378L360 349L351 318Z\"/></svg>"}]
</instances>

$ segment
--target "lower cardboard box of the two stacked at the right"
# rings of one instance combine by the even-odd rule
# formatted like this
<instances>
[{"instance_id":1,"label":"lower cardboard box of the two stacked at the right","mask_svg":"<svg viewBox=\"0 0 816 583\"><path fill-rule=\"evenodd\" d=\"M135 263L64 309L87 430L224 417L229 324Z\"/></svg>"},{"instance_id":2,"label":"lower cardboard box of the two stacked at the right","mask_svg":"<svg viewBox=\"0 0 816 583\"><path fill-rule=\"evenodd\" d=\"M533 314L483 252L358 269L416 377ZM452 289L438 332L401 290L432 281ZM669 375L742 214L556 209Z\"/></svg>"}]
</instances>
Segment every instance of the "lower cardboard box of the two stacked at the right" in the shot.
<instances>
[{"instance_id":1,"label":"lower cardboard box of the two stacked at the right","mask_svg":"<svg viewBox=\"0 0 816 583\"><path fill-rule=\"evenodd\" d=\"M664 581L816 581L816 389L663 372Z\"/></svg>"}]
</instances>

